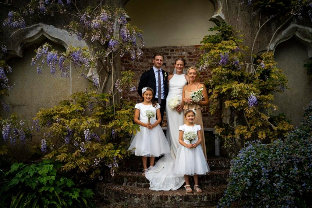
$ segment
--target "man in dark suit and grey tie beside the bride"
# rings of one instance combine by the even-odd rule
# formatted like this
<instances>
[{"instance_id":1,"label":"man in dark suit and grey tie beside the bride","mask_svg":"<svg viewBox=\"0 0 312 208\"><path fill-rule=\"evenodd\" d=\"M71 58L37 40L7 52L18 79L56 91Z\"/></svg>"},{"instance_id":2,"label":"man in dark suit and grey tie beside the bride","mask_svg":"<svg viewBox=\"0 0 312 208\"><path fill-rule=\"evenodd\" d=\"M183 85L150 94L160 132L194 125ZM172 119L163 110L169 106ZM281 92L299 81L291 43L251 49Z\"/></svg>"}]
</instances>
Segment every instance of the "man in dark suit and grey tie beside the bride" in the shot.
<instances>
[{"instance_id":1,"label":"man in dark suit and grey tie beside the bride","mask_svg":"<svg viewBox=\"0 0 312 208\"><path fill-rule=\"evenodd\" d=\"M144 72L141 76L138 93L142 97L142 88L150 87L153 89L154 101L157 101L160 104L160 114L161 114L161 122L160 126L163 123L163 114L166 108L166 98L168 95L168 73L161 69L163 65L163 55L162 54L154 54L153 56L153 64L154 66Z\"/></svg>"}]
</instances>

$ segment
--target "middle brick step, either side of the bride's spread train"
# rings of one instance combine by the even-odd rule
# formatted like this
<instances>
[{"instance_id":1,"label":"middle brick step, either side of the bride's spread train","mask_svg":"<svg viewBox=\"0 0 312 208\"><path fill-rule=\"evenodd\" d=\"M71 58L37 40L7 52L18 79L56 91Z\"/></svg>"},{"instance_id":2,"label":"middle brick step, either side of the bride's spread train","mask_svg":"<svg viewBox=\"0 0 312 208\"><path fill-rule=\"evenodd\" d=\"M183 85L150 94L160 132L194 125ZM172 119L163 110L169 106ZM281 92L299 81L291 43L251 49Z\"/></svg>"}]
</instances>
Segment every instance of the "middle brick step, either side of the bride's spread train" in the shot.
<instances>
[{"instance_id":1,"label":"middle brick step, either side of the bride's spread train","mask_svg":"<svg viewBox=\"0 0 312 208\"><path fill-rule=\"evenodd\" d=\"M207 175L199 176L199 185L217 186L226 184L228 174L228 169L212 171ZM142 176L142 172L120 171L109 182L124 186L149 187L149 181ZM193 182L193 177L190 177L190 182Z\"/></svg>"}]
</instances>

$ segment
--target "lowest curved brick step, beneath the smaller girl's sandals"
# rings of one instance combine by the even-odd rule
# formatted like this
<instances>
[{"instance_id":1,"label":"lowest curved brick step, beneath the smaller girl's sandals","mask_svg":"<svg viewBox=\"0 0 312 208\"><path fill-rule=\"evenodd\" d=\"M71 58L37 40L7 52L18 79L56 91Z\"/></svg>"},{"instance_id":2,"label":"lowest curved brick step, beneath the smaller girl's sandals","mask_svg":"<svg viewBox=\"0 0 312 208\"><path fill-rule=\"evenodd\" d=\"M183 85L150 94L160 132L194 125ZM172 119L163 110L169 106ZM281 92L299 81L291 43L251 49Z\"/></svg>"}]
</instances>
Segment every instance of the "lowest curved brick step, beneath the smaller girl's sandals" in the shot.
<instances>
[{"instance_id":1,"label":"lowest curved brick step, beneath the smaller girl's sandals","mask_svg":"<svg viewBox=\"0 0 312 208\"><path fill-rule=\"evenodd\" d=\"M209 207L216 206L226 185L203 186L203 193L186 193L184 187L176 191L152 191L112 183L98 183L97 194L115 206L136 207Z\"/></svg>"}]
</instances>

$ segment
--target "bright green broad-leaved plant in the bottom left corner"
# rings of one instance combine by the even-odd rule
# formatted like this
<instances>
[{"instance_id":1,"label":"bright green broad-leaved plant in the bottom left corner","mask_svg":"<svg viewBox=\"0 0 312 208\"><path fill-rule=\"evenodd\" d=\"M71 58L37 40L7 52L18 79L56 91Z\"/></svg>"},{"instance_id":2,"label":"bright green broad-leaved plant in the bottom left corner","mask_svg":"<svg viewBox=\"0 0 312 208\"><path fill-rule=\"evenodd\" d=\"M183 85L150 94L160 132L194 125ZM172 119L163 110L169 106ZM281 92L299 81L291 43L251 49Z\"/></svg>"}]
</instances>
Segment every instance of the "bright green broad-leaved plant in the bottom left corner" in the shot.
<instances>
[{"instance_id":1,"label":"bright green broad-leaved plant in the bottom left corner","mask_svg":"<svg viewBox=\"0 0 312 208\"><path fill-rule=\"evenodd\" d=\"M1 207L93 207L94 193L76 188L50 161L14 163L1 181Z\"/></svg>"}]
</instances>

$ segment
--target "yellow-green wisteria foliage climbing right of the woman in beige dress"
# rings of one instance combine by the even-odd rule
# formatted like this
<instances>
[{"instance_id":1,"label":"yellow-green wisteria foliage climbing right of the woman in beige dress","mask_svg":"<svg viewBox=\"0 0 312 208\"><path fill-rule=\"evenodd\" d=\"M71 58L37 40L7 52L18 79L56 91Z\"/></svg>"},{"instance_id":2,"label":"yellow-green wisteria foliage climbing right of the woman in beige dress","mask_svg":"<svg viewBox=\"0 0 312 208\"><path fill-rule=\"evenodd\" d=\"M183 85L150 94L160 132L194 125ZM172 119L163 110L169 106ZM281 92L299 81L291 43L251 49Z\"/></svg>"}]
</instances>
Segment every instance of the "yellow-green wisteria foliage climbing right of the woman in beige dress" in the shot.
<instances>
[{"instance_id":1,"label":"yellow-green wisteria foliage climbing right of the woman in beige dress","mask_svg":"<svg viewBox=\"0 0 312 208\"><path fill-rule=\"evenodd\" d=\"M211 70L211 78L206 80L210 104L210 113L214 114L220 102L230 108L232 114L222 115L228 122L217 125L216 133L225 141L225 147L239 144L241 139L275 140L292 129L284 119L271 122L277 109L271 101L272 92L283 92L287 80L282 70L276 67L273 53L263 53L258 64L243 61L248 56L247 47L242 39L229 34L226 23L212 28L219 31L204 39L202 49L207 51L201 56L200 70ZM219 41L216 41L219 40Z\"/></svg>"}]
</instances>

